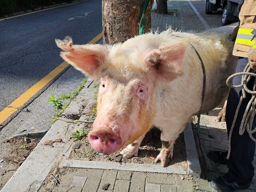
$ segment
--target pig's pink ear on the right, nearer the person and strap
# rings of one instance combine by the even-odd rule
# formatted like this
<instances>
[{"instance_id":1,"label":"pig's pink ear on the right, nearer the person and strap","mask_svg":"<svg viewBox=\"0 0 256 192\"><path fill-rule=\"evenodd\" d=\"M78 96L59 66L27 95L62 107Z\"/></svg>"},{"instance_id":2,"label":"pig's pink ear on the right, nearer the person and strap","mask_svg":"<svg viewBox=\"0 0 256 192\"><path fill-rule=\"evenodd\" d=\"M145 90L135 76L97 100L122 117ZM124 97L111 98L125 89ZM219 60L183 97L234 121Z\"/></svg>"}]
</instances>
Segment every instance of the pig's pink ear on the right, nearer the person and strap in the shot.
<instances>
[{"instance_id":1,"label":"pig's pink ear on the right, nearer the person and strap","mask_svg":"<svg viewBox=\"0 0 256 192\"><path fill-rule=\"evenodd\" d=\"M152 50L144 58L144 62L152 71L156 71L157 78L170 82L183 74L182 59L186 51L186 43L176 43L161 46Z\"/></svg>"}]
</instances>

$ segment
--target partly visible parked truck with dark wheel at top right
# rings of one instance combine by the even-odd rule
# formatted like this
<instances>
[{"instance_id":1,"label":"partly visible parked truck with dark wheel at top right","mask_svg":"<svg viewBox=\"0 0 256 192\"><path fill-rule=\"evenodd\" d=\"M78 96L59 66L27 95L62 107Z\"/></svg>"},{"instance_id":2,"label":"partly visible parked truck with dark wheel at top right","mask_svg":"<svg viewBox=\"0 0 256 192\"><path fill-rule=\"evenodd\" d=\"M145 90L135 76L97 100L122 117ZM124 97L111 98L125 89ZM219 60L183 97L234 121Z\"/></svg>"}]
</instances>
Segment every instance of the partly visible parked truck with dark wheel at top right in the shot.
<instances>
[{"instance_id":1,"label":"partly visible parked truck with dark wheel at top right","mask_svg":"<svg viewBox=\"0 0 256 192\"><path fill-rule=\"evenodd\" d=\"M206 0L205 13L212 14L213 11L221 8L223 10L221 23L224 26L238 20L242 4L244 0Z\"/></svg>"}]
</instances>

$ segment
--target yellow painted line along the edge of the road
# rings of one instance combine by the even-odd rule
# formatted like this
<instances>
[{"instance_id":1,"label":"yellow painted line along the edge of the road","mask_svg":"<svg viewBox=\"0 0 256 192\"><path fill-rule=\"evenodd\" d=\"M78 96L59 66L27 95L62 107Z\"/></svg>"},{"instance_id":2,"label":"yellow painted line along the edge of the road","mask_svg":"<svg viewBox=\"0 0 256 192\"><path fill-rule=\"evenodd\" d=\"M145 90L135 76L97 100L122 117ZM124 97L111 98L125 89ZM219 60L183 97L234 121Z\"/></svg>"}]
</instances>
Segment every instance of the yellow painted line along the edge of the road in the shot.
<instances>
[{"instance_id":1,"label":"yellow painted line along the edge of the road","mask_svg":"<svg viewBox=\"0 0 256 192\"><path fill-rule=\"evenodd\" d=\"M94 44L102 38L102 32L93 38L88 44ZM14 100L10 105L8 105L4 110L0 111L0 124L6 121L14 112L21 108L26 102L28 102L35 94L37 94L44 86L46 86L51 80L53 80L58 74L60 74L69 64L65 61L56 67L47 76L42 78L39 82L34 84L26 92L20 95L16 100Z\"/></svg>"}]
</instances>

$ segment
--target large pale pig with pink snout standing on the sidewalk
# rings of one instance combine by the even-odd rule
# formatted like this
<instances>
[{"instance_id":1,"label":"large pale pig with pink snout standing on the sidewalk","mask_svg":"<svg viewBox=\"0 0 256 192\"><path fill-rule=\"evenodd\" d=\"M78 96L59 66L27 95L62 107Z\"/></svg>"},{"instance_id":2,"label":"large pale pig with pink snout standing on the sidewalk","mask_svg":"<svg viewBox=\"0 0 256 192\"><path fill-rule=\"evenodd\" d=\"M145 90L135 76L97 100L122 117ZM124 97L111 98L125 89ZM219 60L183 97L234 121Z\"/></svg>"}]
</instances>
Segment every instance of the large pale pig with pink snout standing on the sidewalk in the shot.
<instances>
[{"instance_id":1,"label":"large pale pig with pink snout standing on the sidewalk","mask_svg":"<svg viewBox=\"0 0 256 192\"><path fill-rule=\"evenodd\" d=\"M186 123L200 110L203 86L206 113L224 102L226 79L236 68L233 42L214 30L168 29L114 45L73 45L71 38L56 44L64 60L100 82L97 116L88 135L92 148L102 154L122 148L124 157L137 156L146 132L156 126L162 131L162 149L155 162L163 167ZM205 66L205 85L193 47Z\"/></svg>"}]
</instances>

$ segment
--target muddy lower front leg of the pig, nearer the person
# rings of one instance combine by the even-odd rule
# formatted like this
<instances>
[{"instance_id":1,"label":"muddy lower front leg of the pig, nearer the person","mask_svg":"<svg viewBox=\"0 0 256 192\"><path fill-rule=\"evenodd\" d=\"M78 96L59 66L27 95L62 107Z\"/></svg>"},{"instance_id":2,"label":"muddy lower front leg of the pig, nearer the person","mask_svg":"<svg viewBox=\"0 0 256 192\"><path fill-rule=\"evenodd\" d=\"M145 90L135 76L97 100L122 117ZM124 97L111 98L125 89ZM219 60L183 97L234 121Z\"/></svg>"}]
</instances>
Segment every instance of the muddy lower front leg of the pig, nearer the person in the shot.
<instances>
[{"instance_id":1,"label":"muddy lower front leg of the pig, nearer the person","mask_svg":"<svg viewBox=\"0 0 256 192\"><path fill-rule=\"evenodd\" d=\"M161 133L162 149L155 159L155 163L161 162L162 167L166 167L169 159L172 159L173 147L178 136L172 138L164 138L164 133Z\"/></svg>"}]
</instances>

